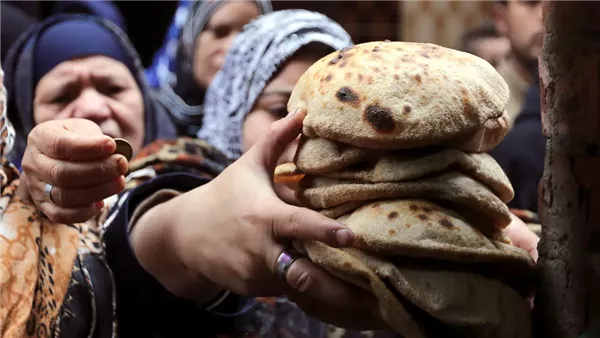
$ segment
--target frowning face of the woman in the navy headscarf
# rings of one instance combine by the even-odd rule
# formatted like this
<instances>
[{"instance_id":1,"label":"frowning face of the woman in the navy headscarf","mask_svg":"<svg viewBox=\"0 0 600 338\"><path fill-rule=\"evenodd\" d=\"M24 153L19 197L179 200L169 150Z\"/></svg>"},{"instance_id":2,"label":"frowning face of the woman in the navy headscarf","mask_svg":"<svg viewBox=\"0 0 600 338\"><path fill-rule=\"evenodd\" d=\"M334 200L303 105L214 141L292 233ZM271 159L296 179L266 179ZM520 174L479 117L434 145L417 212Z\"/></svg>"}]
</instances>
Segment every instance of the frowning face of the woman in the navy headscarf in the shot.
<instances>
[{"instance_id":1,"label":"frowning face of the woman in the navy headscarf","mask_svg":"<svg viewBox=\"0 0 600 338\"><path fill-rule=\"evenodd\" d=\"M134 152L144 141L144 101L129 69L106 56L60 63L35 88L35 124L84 118L110 137L124 138Z\"/></svg>"}]
</instances>

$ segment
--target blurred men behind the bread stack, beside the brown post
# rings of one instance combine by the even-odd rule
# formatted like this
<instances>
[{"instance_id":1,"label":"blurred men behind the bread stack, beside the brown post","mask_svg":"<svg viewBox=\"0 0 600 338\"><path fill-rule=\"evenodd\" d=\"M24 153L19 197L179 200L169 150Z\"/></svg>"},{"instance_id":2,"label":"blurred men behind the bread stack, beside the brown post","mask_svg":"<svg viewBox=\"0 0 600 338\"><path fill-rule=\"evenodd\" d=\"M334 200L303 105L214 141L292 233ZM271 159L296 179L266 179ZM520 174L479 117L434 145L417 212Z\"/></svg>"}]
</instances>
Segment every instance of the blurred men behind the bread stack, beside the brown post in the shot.
<instances>
[{"instance_id":1,"label":"blurred men behind the bread stack, beside the brown post","mask_svg":"<svg viewBox=\"0 0 600 338\"><path fill-rule=\"evenodd\" d=\"M511 132L491 152L515 189L509 206L538 210L538 183L544 171L538 57L544 23L540 0L497 0L495 22L463 36L461 48L496 66L510 89Z\"/></svg>"}]
</instances>

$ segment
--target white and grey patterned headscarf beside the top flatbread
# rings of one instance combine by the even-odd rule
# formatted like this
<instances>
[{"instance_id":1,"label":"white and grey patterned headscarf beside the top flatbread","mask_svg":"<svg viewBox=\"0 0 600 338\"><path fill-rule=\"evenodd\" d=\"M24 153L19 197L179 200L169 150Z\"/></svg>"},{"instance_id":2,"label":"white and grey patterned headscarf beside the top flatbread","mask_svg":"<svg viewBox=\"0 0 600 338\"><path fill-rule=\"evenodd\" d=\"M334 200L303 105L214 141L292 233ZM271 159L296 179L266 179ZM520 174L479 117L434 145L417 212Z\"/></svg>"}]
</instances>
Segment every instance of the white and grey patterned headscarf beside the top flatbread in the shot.
<instances>
[{"instance_id":1,"label":"white and grey patterned headscarf beside the top flatbread","mask_svg":"<svg viewBox=\"0 0 600 338\"><path fill-rule=\"evenodd\" d=\"M285 61L313 42L335 50L352 45L339 24L307 10L273 12L246 25L208 88L198 137L231 159L241 156L242 125L254 102Z\"/></svg>"}]
</instances>

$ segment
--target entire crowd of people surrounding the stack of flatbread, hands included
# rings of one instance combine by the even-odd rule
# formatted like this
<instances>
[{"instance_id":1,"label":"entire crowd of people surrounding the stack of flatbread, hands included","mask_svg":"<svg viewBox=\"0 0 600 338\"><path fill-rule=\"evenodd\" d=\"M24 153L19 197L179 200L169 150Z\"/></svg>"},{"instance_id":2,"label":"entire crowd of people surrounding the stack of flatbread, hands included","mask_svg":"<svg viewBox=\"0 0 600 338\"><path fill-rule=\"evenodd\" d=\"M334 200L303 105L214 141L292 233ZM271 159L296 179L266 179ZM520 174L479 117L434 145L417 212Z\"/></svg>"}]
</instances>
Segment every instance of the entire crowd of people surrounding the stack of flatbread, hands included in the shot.
<instances>
[{"instance_id":1,"label":"entire crowd of people surrounding the stack of flatbread, hands included","mask_svg":"<svg viewBox=\"0 0 600 338\"><path fill-rule=\"evenodd\" d=\"M147 69L114 7L22 27L2 35L1 336L396 337L365 290L307 258L279 264L293 240L354 239L272 183L302 129L291 90L353 44L342 26L269 0L182 0ZM509 84L513 130L492 155L514 213L535 219L541 5L498 1L494 27L498 41L463 45ZM507 234L537 256L523 221Z\"/></svg>"}]
</instances>

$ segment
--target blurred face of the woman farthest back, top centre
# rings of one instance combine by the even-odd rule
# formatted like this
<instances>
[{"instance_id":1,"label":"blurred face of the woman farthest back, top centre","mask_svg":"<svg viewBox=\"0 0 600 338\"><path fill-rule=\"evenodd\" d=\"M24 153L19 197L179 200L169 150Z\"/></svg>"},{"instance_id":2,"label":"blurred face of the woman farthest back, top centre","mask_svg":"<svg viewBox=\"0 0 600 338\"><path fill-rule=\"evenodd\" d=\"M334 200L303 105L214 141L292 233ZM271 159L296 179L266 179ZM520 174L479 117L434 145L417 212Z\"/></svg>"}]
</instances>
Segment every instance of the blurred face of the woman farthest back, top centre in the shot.
<instances>
[{"instance_id":1,"label":"blurred face of the woman farthest back, top centre","mask_svg":"<svg viewBox=\"0 0 600 338\"><path fill-rule=\"evenodd\" d=\"M227 1L213 13L198 35L194 51L194 79L200 88L208 88L213 76L223 66L235 35L259 15L258 5L249 0Z\"/></svg>"}]
</instances>

